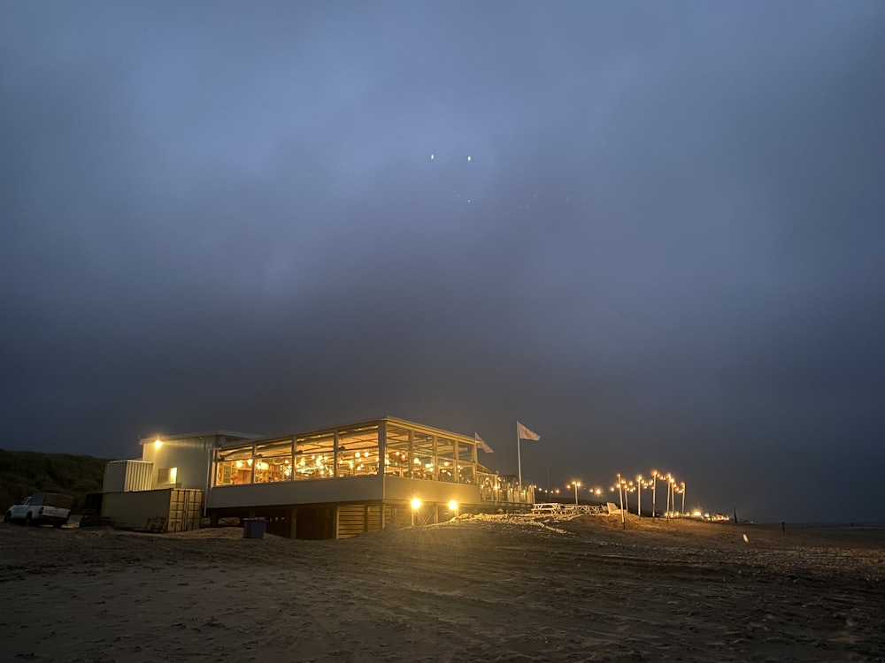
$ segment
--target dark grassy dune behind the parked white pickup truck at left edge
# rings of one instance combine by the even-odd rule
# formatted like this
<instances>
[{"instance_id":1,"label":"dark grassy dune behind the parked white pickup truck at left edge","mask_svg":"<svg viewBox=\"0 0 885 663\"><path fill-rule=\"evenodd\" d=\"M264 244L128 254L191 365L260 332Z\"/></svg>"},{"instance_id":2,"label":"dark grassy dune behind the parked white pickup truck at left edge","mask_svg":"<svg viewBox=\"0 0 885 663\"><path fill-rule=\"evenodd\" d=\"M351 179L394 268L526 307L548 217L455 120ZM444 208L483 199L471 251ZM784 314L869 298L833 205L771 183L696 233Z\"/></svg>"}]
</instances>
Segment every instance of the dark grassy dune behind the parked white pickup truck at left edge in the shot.
<instances>
[{"instance_id":1,"label":"dark grassy dune behind the parked white pickup truck at left edge","mask_svg":"<svg viewBox=\"0 0 885 663\"><path fill-rule=\"evenodd\" d=\"M104 458L0 449L0 509L32 492L63 492L79 513L89 492L101 492Z\"/></svg>"}]
</instances>

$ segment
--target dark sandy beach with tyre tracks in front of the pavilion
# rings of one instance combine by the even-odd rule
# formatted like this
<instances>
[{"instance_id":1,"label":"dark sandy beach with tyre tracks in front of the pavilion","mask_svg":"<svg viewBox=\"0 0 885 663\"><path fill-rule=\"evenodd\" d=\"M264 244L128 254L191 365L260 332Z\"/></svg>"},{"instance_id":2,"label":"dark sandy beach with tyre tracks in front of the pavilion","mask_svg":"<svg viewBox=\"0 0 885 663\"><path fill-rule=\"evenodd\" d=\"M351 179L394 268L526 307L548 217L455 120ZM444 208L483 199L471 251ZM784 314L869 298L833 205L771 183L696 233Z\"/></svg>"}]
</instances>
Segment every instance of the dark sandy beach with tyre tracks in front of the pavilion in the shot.
<instances>
[{"instance_id":1,"label":"dark sandy beach with tyre tracks in front of the pavilion","mask_svg":"<svg viewBox=\"0 0 885 663\"><path fill-rule=\"evenodd\" d=\"M241 536L3 525L0 659L885 660L885 529L583 515Z\"/></svg>"}]
</instances>

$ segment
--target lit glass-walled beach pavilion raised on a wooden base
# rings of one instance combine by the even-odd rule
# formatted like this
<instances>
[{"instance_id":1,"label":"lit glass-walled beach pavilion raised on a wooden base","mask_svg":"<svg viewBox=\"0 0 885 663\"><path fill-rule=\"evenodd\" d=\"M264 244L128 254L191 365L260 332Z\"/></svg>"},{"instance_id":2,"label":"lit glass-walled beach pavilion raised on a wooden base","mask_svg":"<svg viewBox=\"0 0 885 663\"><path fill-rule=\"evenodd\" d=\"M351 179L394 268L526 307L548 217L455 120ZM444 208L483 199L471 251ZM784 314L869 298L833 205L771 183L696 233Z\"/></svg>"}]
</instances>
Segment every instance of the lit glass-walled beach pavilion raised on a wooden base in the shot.
<instances>
[{"instance_id":1,"label":"lit glass-walled beach pavilion raised on a wooden base","mask_svg":"<svg viewBox=\"0 0 885 663\"><path fill-rule=\"evenodd\" d=\"M479 461L476 438L391 416L274 438L209 431L141 443L141 461L120 462L143 464L145 488L199 489L213 525L264 518L285 537L351 537L535 501L531 486Z\"/></svg>"}]
</instances>

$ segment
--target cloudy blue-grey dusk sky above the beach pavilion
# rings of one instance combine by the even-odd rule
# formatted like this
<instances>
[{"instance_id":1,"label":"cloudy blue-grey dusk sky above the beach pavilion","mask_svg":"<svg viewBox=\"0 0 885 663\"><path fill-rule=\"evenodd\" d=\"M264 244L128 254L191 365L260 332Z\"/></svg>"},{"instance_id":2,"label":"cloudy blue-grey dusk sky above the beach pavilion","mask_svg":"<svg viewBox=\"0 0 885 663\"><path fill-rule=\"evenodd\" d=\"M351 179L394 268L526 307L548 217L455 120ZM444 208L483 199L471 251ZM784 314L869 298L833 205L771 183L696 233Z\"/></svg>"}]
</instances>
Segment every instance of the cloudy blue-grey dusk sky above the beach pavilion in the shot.
<instances>
[{"instance_id":1,"label":"cloudy blue-grey dusk sky above the beach pavilion","mask_svg":"<svg viewBox=\"0 0 885 663\"><path fill-rule=\"evenodd\" d=\"M4 3L7 449L381 415L882 521L885 4Z\"/></svg>"}]
</instances>

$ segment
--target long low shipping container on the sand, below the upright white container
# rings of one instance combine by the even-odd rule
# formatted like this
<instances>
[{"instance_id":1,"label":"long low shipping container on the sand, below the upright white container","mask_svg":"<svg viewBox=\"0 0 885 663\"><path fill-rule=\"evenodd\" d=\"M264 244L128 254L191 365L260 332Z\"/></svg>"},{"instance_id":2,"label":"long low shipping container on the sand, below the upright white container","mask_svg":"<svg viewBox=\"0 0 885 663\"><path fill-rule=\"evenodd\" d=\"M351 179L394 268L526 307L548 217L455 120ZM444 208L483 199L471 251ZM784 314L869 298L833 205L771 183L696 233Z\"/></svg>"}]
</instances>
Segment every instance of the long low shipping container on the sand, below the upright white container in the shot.
<instances>
[{"instance_id":1,"label":"long low shipping container on the sand, below the upright white container","mask_svg":"<svg viewBox=\"0 0 885 663\"><path fill-rule=\"evenodd\" d=\"M198 530L202 513L203 491L197 489L106 492L102 499L102 518L121 530Z\"/></svg>"}]
</instances>

